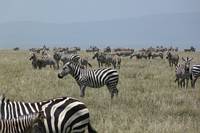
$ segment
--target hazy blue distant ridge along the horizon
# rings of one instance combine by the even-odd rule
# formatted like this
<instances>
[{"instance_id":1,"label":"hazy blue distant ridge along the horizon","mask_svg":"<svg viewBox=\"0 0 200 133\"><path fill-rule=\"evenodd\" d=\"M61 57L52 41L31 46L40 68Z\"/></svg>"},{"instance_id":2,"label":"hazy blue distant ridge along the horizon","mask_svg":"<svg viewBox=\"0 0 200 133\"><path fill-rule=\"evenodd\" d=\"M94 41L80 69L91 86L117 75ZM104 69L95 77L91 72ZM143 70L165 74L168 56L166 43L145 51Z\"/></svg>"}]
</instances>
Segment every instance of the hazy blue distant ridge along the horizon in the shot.
<instances>
[{"instance_id":1,"label":"hazy blue distant ridge along the horizon","mask_svg":"<svg viewBox=\"0 0 200 133\"><path fill-rule=\"evenodd\" d=\"M42 44L105 47L176 45L200 47L200 13L143 16L99 22L54 24L0 23L0 48L39 47Z\"/></svg>"}]
</instances>

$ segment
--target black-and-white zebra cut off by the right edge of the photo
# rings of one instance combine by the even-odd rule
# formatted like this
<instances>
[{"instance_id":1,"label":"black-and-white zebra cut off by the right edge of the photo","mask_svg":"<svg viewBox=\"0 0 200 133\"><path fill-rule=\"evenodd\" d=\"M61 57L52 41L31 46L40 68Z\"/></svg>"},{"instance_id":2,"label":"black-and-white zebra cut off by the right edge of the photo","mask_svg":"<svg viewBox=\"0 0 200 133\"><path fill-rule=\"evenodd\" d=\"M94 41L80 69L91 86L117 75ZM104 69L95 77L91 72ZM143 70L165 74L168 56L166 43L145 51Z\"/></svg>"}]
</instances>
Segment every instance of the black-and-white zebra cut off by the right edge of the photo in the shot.
<instances>
[{"instance_id":1,"label":"black-and-white zebra cut off by the right edge of the photo","mask_svg":"<svg viewBox=\"0 0 200 133\"><path fill-rule=\"evenodd\" d=\"M191 85L193 88L195 88L195 83L198 79L198 77L200 77L200 64L198 65L193 65L191 68Z\"/></svg>"}]
</instances>

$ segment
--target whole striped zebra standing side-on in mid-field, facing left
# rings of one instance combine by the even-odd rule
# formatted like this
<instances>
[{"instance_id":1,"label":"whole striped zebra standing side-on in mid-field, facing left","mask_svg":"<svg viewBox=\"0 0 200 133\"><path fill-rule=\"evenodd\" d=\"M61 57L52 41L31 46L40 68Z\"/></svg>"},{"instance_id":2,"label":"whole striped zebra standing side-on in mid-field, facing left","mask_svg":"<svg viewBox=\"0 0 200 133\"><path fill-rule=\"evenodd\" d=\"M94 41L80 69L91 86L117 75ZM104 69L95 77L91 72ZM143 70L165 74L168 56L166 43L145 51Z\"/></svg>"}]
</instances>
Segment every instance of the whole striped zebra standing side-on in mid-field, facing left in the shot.
<instances>
[{"instance_id":1,"label":"whole striped zebra standing side-on in mid-field, facing left","mask_svg":"<svg viewBox=\"0 0 200 133\"><path fill-rule=\"evenodd\" d=\"M93 87L100 88L104 85L107 86L111 99L114 94L118 94L117 84L119 80L119 74L115 69L112 68L99 68L93 69L82 69L80 65L73 62L67 62L63 69L58 73L59 78L71 74L80 87L80 96L84 97L85 88Z\"/></svg>"}]
</instances>

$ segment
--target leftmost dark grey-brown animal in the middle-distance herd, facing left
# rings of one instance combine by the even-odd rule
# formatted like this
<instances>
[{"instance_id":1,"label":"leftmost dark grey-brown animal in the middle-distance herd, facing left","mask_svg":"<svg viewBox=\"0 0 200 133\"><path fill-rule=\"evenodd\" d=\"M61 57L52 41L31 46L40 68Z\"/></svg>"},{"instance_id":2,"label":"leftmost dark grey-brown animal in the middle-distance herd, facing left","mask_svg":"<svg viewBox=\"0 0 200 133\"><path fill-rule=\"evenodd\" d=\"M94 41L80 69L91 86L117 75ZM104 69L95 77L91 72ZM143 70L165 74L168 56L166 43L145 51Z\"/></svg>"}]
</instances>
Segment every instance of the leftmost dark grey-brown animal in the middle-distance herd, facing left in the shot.
<instances>
[{"instance_id":1,"label":"leftmost dark grey-brown animal in the middle-distance herd, facing left","mask_svg":"<svg viewBox=\"0 0 200 133\"><path fill-rule=\"evenodd\" d=\"M36 56L35 53L33 53L29 60L32 60L32 66L34 69L42 69L42 67L46 67L47 65L49 65L50 68L52 68L53 66L53 68L55 69L55 61L51 58L40 59Z\"/></svg>"}]
</instances>

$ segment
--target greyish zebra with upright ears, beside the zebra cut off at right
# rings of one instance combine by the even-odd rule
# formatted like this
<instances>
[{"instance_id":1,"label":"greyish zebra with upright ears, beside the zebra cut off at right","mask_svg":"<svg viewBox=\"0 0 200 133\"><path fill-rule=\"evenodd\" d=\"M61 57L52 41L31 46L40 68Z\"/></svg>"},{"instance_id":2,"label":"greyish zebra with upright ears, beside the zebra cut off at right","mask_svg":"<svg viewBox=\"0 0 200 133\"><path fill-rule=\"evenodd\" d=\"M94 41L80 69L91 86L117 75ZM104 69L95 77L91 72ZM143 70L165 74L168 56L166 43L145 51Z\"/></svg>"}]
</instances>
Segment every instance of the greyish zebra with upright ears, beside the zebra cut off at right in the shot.
<instances>
[{"instance_id":1,"label":"greyish zebra with upright ears, beside the zebra cut off at right","mask_svg":"<svg viewBox=\"0 0 200 133\"><path fill-rule=\"evenodd\" d=\"M188 82L191 76L190 73L190 62L192 61L193 58L189 58L187 57L182 58L182 60L184 61L184 64L178 64L176 66L176 80L178 82L178 87L181 85L181 87L184 85L185 88L188 87ZM185 83L186 81L186 83Z\"/></svg>"}]
</instances>

